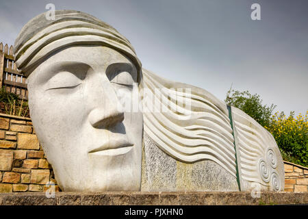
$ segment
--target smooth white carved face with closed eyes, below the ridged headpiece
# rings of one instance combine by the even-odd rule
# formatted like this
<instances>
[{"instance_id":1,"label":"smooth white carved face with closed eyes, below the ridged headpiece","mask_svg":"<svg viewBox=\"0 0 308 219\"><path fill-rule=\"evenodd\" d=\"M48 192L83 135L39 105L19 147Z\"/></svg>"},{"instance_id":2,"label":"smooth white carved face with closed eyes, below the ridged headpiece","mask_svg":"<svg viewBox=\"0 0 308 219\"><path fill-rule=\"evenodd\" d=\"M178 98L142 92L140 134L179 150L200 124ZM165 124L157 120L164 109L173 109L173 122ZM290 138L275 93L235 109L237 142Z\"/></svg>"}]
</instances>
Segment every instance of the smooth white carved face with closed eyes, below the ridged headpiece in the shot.
<instances>
[{"instance_id":1,"label":"smooth white carved face with closed eyes, below the ridged headpiece","mask_svg":"<svg viewBox=\"0 0 308 219\"><path fill-rule=\"evenodd\" d=\"M102 46L62 49L28 77L31 119L62 190L140 190L142 113L120 107L123 95L138 98L137 78L128 57Z\"/></svg>"}]
</instances>

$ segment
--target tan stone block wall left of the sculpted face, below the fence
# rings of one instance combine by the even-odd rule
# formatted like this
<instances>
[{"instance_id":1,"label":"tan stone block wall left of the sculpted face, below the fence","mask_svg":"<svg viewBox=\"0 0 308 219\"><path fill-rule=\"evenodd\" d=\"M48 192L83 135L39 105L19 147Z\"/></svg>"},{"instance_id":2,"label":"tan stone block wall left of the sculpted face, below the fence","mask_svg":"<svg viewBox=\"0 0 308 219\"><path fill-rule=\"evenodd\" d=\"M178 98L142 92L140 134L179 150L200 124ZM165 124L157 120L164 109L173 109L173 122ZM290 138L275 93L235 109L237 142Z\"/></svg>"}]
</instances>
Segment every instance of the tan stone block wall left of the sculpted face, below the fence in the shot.
<instances>
[{"instance_id":1,"label":"tan stone block wall left of the sculpted face, below the fence","mask_svg":"<svg viewBox=\"0 0 308 219\"><path fill-rule=\"evenodd\" d=\"M0 192L43 192L55 183L31 119L0 114Z\"/></svg>"}]
</instances>

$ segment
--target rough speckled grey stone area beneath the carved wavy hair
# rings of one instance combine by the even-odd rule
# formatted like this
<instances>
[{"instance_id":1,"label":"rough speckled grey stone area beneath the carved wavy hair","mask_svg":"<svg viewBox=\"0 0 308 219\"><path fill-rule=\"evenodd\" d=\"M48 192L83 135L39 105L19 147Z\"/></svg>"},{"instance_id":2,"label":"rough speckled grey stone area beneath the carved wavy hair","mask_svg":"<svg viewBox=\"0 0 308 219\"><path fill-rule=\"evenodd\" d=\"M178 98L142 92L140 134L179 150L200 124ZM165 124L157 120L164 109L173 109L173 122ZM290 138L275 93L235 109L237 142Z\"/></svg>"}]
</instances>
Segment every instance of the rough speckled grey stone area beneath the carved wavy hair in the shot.
<instances>
[{"instance_id":1,"label":"rough speckled grey stone area beneath the carved wavy hair","mask_svg":"<svg viewBox=\"0 0 308 219\"><path fill-rule=\"evenodd\" d=\"M211 161L185 164L166 155L144 133L142 191L237 191L236 178ZM159 160L159 162L156 162Z\"/></svg>"}]
</instances>

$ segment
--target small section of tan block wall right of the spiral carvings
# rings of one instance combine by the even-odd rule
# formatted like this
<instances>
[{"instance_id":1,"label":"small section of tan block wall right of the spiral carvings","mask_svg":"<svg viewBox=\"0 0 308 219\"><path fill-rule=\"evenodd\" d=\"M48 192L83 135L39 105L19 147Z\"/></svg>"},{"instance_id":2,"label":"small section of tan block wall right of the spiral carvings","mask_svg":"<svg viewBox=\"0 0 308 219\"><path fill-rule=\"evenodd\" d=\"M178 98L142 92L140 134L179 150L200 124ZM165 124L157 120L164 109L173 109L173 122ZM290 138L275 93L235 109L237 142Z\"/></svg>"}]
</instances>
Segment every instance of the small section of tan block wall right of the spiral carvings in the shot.
<instances>
[{"instance_id":1,"label":"small section of tan block wall right of the spiral carvings","mask_svg":"<svg viewBox=\"0 0 308 219\"><path fill-rule=\"evenodd\" d=\"M285 163L285 192L308 192L308 168Z\"/></svg>"}]
</instances>

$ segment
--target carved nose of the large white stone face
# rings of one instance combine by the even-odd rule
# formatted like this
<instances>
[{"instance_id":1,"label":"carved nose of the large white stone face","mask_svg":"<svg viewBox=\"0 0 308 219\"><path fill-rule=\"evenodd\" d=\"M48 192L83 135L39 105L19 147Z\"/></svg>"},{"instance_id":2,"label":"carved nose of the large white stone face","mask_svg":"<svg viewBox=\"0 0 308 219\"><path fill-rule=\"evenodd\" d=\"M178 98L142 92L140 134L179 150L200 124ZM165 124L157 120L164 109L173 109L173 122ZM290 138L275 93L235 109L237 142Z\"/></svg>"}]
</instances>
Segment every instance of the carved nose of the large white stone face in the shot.
<instances>
[{"instance_id":1,"label":"carved nose of the large white stone face","mask_svg":"<svg viewBox=\"0 0 308 219\"><path fill-rule=\"evenodd\" d=\"M90 90L88 101L92 105L92 110L88 120L92 127L97 129L114 127L124 120L123 107L119 104L118 96L109 81L97 79Z\"/></svg>"}]
</instances>

